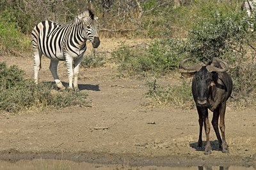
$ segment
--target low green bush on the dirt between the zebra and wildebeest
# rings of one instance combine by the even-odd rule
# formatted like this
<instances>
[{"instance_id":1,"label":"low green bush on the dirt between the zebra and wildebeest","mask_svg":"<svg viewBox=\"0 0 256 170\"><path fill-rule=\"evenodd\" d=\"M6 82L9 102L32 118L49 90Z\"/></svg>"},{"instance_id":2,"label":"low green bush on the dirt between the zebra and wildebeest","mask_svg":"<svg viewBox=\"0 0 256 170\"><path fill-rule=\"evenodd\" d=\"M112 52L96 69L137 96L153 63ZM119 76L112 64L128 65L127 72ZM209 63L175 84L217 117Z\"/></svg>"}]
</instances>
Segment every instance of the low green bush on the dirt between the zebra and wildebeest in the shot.
<instances>
[{"instance_id":1,"label":"low green bush on the dirt between the zebra and wildebeest","mask_svg":"<svg viewBox=\"0 0 256 170\"><path fill-rule=\"evenodd\" d=\"M179 67L182 48L182 41L165 39L150 45L143 43L133 48L122 44L111 55L120 64L122 74L126 72L129 75L159 75Z\"/></svg>"}]
</instances>

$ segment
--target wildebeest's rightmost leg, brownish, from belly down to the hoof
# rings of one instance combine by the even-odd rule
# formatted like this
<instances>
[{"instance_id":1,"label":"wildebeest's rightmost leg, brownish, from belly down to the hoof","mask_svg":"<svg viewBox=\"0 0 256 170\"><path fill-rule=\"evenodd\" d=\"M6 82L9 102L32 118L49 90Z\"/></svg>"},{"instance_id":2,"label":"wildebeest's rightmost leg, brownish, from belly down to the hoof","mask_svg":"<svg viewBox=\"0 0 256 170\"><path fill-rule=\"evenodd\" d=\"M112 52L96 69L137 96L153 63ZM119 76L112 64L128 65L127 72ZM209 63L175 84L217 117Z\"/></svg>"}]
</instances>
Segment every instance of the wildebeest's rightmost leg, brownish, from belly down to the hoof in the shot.
<instances>
[{"instance_id":1,"label":"wildebeest's rightmost leg, brownish, from belly down to the hoof","mask_svg":"<svg viewBox=\"0 0 256 170\"><path fill-rule=\"evenodd\" d=\"M228 145L225 139L225 111L226 111L226 101L220 105L220 131L222 137L221 148L223 153L229 153Z\"/></svg>"}]
</instances>

